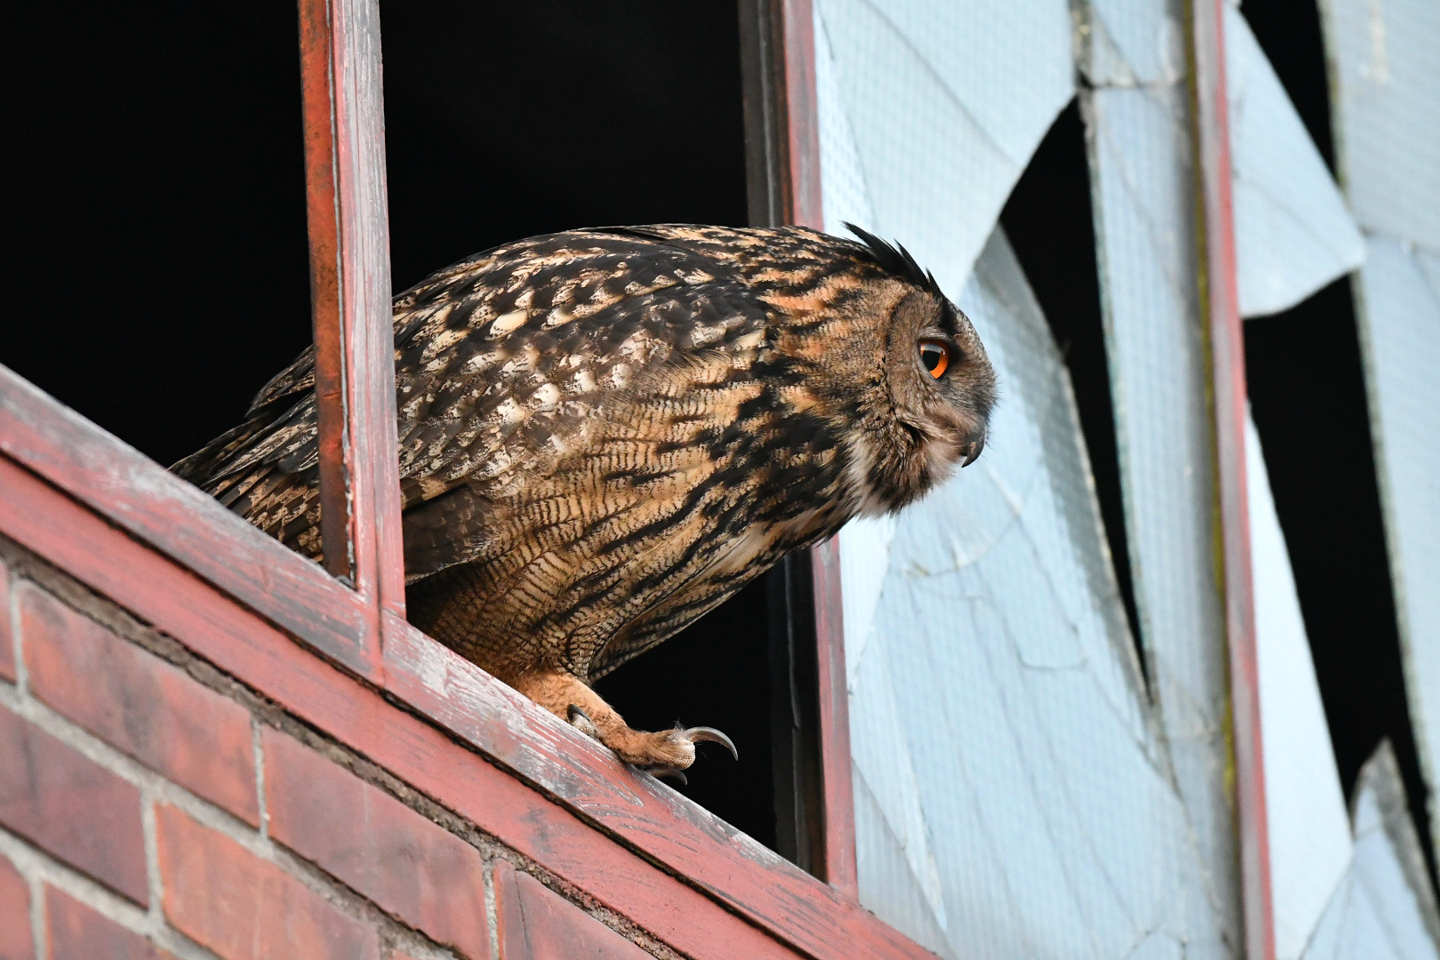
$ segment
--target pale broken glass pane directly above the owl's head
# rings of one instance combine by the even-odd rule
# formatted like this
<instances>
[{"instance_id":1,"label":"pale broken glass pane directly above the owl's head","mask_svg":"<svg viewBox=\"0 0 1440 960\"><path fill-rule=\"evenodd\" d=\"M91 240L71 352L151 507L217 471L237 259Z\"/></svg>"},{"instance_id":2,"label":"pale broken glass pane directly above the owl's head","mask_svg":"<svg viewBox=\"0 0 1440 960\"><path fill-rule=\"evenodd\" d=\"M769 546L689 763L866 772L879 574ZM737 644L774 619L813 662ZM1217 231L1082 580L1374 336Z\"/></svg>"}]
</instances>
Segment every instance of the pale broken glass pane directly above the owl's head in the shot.
<instances>
[{"instance_id":1,"label":"pale broken glass pane directly above the owl's head","mask_svg":"<svg viewBox=\"0 0 1440 960\"><path fill-rule=\"evenodd\" d=\"M965 276L1074 92L1064 0L818 0L815 12L873 227Z\"/></svg>"}]
</instances>

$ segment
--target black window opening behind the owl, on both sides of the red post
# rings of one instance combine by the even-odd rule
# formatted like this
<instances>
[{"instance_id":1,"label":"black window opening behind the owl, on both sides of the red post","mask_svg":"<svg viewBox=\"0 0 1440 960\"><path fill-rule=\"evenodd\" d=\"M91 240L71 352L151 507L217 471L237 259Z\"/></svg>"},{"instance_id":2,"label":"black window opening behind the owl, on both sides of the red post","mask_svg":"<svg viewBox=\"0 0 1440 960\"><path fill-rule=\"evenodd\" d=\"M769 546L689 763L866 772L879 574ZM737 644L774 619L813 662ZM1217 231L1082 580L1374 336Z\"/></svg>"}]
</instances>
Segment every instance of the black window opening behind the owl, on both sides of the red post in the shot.
<instances>
[{"instance_id":1,"label":"black window opening behind the owl, on both sides of the red post","mask_svg":"<svg viewBox=\"0 0 1440 960\"><path fill-rule=\"evenodd\" d=\"M0 363L168 465L239 423L311 338L295 7L16 16L12 125L27 147L12 151L12 256L29 295ZM746 222L733 6L382 16L396 289L536 233ZM740 763L703 747L681 790L775 846L789 773L772 767L770 589L600 691L636 725L734 737Z\"/></svg>"}]
</instances>

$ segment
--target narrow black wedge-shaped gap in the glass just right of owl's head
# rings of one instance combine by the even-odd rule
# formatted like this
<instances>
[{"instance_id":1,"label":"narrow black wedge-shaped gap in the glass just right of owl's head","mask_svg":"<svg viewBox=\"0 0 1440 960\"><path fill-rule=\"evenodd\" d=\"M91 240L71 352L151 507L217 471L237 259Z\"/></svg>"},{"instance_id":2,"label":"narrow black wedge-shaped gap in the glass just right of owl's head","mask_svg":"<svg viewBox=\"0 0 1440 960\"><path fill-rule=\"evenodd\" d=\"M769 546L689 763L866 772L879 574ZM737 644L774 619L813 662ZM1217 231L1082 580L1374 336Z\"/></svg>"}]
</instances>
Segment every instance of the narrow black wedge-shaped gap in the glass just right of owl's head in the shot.
<instances>
[{"instance_id":1,"label":"narrow black wedge-shaped gap in the glass just right of owl's head","mask_svg":"<svg viewBox=\"0 0 1440 960\"><path fill-rule=\"evenodd\" d=\"M1070 371L1120 599L1130 636L1139 645L1139 613L1125 535L1115 407L1100 314L1090 164L1077 101L1071 101L1051 124L1011 191L999 222ZM1138 653L1143 669L1143 651Z\"/></svg>"}]
</instances>

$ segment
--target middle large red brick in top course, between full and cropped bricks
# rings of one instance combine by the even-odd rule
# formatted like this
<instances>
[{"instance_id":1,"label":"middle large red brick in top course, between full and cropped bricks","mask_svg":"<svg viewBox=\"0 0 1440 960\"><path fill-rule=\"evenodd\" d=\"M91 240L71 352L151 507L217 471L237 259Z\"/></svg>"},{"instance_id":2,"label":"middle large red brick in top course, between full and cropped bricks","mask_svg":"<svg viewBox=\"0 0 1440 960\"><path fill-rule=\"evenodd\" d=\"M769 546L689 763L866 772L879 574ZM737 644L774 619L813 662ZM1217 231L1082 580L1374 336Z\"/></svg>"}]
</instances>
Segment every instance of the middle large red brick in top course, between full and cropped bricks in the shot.
<instances>
[{"instance_id":1,"label":"middle large red brick in top course, between full and cropped bricks","mask_svg":"<svg viewBox=\"0 0 1440 960\"><path fill-rule=\"evenodd\" d=\"M433 940L490 956L484 859L295 740L265 730L271 836Z\"/></svg>"}]
</instances>

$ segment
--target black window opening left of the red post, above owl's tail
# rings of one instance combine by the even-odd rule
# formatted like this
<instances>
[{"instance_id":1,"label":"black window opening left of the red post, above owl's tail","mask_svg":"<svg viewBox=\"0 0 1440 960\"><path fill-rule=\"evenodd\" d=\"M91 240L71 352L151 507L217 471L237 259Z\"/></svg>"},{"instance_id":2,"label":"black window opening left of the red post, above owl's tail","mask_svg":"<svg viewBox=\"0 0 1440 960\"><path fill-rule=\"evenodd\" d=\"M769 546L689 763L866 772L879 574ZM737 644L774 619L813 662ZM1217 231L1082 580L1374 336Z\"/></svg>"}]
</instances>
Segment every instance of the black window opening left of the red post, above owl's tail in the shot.
<instances>
[{"instance_id":1,"label":"black window opening left of the red post, above owl's tail","mask_svg":"<svg viewBox=\"0 0 1440 960\"><path fill-rule=\"evenodd\" d=\"M12 10L0 363L170 465L310 343L294 3Z\"/></svg>"}]
</instances>

